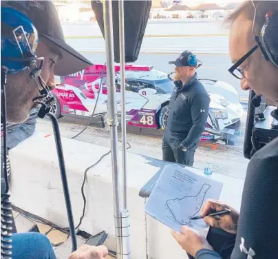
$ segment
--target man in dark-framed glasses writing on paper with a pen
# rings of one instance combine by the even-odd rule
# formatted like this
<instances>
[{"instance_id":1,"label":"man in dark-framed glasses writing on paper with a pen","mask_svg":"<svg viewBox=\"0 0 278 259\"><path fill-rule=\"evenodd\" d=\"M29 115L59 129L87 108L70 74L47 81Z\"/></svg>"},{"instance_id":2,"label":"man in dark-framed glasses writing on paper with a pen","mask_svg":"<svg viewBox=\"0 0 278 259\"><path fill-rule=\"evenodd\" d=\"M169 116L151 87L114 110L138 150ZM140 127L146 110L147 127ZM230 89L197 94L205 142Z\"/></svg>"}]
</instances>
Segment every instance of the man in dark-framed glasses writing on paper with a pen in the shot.
<instances>
[{"instance_id":1,"label":"man in dark-framed glasses writing on paper with a pen","mask_svg":"<svg viewBox=\"0 0 278 259\"><path fill-rule=\"evenodd\" d=\"M242 90L254 90L278 107L278 2L244 1L229 14L230 56L228 70L240 79ZM232 195L232 194L231 194ZM234 235L231 259L278 258L278 137L259 149L248 164L239 213L230 206L208 200L202 209L204 220L226 235ZM214 218L213 211L231 209L231 214ZM196 259L227 258L208 244L204 236L182 226L172 233L181 247ZM226 245L226 244L224 244ZM215 249L215 251L213 251Z\"/></svg>"}]
</instances>

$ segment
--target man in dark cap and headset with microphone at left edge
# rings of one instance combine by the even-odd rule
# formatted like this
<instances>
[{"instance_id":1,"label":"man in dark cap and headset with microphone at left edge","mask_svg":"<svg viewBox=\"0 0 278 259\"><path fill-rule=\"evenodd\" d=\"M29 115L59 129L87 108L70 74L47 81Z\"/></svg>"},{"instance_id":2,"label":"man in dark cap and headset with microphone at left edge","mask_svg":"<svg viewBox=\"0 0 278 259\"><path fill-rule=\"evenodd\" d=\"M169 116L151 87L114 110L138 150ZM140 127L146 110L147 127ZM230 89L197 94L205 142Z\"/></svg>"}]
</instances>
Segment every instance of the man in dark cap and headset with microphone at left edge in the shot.
<instances>
[{"instance_id":1,"label":"man in dark cap and headset with microphone at left edge","mask_svg":"<svg viewBox=\"0 0 278 259\"><path fill-rule=\"evenodd\" d=\"M2 12L3 10L5 10L5 12ZM4 117L7 123L23 123L28 118L32 107L34 107L33 100L41 96L41 90L46 87L50 90L54 89L54 74L60 76L72 74L83 70L87 66L92 65L92 63L65 43L63 30L52 1L1 1L1 67L6 62L3 56L8 56L15 50L6 50L4 48L5 45L2 44L7 42L6 39L8 39L9 42L14 42L15 36L10 37L10 34L8 34L8 32L12 32L13 29L9 27L11 21L15 21L13 14L17 13L12 12L13 10L17 10L17 12L24 14L26 19L30 20L38 31L39 43L34 49L36 57L43 57L44 59L39 83L35 81L30 74L29 65L28 67L23 67L22 70L14 69L14 73L7 75L7 83L5 86L6 114L1 113L1 121ZM5 15L3 15L3 13ZM10 15L8 15L8 13L10 13ZM21 35L17 35L17 37L21 37ZM23 60L25 59L23 58ZM17 63L22 62L21 59L17 60ZM40 150L40 148L43 149L43 147L38 147L38 150ZM26 152L28 152L28 150L26 150ZM3 163L3 161L1 163ZM25 173L26 172L23 170L22 174ZM38 174L40 174L40 172L38 172ZM5 189L6 185L2 186L1 179L1 194ZM28 198L26 198L26 203L28 203ZM11 239L13 259L56 258L50 240L43 234L32 232L14 233ZM3 241L5 241L4 237L1 242ZM7 247L9 246L10 244L8 244ZM3 247L5 247L5 244ZM2 253L8 253L8 251L4 248L2 251L1 247L1 258ZM70 254L69 259L103 259L107 256L107 253L108 250L104 246L92 247L83 245L74 251L74 253ZM10 258L10 256L7 255L5 258Z\"/></svg>"}]
</instances>

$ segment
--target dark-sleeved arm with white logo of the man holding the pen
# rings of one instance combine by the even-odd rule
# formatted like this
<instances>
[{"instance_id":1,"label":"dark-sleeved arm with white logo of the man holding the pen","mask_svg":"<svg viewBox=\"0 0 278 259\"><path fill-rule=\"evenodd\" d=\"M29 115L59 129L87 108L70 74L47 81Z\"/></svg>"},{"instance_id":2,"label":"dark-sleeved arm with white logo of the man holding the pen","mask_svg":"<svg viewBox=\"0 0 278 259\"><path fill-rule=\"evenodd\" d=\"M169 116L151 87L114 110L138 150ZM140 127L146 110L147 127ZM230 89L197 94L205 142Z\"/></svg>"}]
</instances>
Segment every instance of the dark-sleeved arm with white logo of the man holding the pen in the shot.
<instances>
[{"instance_id":1,"label":"dark-sleeved arm with white logo of the man holding the pen","mask_svg":"<svg viewBox=\"0 0 278 259\"><path fill-rule=\"evenodd\" d=\"M259 150L248 165L232 259L277 258L278 151L271 156L271 149L277 147Z\"/></svg>"}]
</instances>

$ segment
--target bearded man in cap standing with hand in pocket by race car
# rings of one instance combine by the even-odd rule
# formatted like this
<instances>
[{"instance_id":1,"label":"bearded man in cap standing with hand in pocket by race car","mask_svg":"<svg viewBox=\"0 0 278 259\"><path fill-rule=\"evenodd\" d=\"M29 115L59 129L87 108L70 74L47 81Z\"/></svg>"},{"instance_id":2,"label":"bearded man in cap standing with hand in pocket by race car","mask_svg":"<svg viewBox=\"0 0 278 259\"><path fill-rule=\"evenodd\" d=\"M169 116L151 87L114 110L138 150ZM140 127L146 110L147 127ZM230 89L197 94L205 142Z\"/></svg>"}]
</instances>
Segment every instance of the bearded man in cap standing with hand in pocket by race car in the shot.
<instances>
[{"instance_id":1,"label":"bearded man in cap standing with hand in pocket by race car","mask_svg":"<svg viewBox=\"0 0 278 259\"><path fill-rule=\"evenodd\" d=\"M163 160L192 167L211 100L197 79L195 70L201 63L194 54L184 51L169 64L175 65L175 88L162 141Z\"/></svg>"}]
</instances>

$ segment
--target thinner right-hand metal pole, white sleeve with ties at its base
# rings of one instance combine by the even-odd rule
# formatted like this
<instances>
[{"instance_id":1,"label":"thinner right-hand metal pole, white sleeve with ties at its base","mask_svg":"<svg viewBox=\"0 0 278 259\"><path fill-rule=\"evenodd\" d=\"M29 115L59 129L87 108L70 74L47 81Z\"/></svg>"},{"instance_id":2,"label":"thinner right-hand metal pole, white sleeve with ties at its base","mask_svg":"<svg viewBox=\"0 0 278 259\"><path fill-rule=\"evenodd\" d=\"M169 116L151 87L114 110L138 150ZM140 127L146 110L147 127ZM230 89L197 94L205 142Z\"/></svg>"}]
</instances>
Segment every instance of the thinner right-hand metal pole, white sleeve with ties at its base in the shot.
<instances>
[{"instance_id":1,"label":"thinner right-hand metal pole, white sleeve with ties at its base","mask_svg":"<svg viewBox=\"0 0 278 259\"><path fill-rule=\"evenodd\" d=\"M125 121L125 15L124 0L119 1L120 82L122 94L122 258L130 258L129 211L127 210L127 127Z\"/></svg>"}]
</instances>

